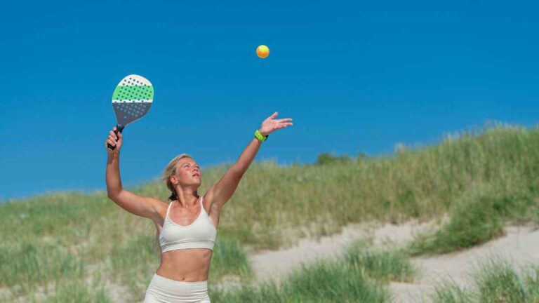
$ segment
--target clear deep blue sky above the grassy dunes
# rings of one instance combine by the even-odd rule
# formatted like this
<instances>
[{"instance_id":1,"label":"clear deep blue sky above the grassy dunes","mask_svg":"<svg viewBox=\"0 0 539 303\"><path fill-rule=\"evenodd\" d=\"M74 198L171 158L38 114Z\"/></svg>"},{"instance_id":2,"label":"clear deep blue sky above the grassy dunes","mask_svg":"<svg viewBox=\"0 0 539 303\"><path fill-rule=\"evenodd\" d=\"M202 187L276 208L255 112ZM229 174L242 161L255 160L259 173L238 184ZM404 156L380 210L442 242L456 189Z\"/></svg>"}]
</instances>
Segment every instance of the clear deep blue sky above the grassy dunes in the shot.
<instances>
[{"instance_id":1,"label":"clear deep blue sky above the grassy dunes","mask_svg":"<svg viewBox=\"0 0 539 303\"><path fill-rule=\"evenodd\" d=\"M534 1L79 2L0 11L0 200L105 189L111 97L128 74L155 95L124 130L124 187L182 152L203 169L235 161L275 111L294 126L257 160L387 154L538 121Z\"/></svg>"}]
</instances>

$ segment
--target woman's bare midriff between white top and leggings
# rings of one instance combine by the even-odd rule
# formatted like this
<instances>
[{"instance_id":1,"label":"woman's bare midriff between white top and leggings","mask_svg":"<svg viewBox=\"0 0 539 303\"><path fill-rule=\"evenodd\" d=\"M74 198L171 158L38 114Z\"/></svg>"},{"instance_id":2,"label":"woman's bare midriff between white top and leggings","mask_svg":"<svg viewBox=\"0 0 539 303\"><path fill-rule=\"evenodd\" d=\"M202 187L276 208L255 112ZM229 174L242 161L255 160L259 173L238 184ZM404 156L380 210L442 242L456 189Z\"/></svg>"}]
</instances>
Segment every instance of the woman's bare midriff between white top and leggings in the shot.
<instances>
[{"instance_id":1,"label":"woman's bare midriff between white top and leggings","mask_svg":"<svg viewBox=\"0 0 539 303\"><path fill-rule=\"evenodd\" d=\"M208 248L169 250L161 253L161 264L156 274L176 281L206 281L212 253L213 250Z\"/></svg>"}]
</instances>

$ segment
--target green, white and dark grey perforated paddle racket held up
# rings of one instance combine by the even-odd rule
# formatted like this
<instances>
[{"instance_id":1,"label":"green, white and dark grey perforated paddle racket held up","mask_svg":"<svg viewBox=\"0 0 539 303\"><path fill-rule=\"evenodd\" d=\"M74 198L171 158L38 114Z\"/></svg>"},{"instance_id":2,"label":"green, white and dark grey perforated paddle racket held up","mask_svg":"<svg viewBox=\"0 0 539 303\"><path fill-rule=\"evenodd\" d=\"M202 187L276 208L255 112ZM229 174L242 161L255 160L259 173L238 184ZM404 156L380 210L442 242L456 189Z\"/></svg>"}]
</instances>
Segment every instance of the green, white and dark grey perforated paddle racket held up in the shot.
<instances>
[{"instance_id":1,"label":"green, white and dark grey perforated paddle racket held up","mask_svg":"<svg viewBox=\"0 0 539 303\"><path fill-rule=\"evenodd\" d=\"M117 120L114 135L121 133L129 123L145 116L153 100L154 87L145 77L131 74L121 79L112 94L112 108ZM107 144L107 149L115 148Z\"/></svg>"}]
</instances>

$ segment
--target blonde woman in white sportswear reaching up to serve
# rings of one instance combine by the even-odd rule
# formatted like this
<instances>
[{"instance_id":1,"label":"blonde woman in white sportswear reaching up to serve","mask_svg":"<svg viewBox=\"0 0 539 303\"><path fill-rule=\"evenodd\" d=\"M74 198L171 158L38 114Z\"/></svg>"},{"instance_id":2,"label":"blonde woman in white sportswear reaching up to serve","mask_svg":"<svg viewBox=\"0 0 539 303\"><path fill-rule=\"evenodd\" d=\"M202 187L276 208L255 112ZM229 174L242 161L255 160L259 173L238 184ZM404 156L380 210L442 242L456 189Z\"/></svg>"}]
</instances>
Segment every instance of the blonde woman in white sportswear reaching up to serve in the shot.
<instances>
[{"instance_id":1,"label":"blonde woman in white sportswear reaching up to serve","mask_svg":"<svg viewBox=\"0 0 539 303\"><path fill-rule=\"evenodd\" d=\"M262 121L238 161L204 196L197 192L202 177L197 162L187 154L176 156L163 175L171 190L168 203L122 189L119 172L122 135L114 135L115 127L110 131L105 148L107 144L116 148L107 149L107 194L129 213L152 220L159 234L161 264L148 285L145 303L210 302L208 270L222 206L234 194L267 135L292 125L292 119L276 117L277 112Z\"/></svg>"}]
</instances>

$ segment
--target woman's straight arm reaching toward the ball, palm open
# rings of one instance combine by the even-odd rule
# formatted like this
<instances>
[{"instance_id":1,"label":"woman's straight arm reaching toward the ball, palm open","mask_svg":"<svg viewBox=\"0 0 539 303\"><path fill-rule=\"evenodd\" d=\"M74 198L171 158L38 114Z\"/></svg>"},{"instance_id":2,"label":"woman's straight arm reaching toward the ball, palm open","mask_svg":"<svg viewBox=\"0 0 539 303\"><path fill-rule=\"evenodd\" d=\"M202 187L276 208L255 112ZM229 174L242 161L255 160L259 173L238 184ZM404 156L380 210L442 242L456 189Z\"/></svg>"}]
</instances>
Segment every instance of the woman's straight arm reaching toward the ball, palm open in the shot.
<instances>
[{"instance_id":1,"label":"woman's straight arm reaching toward the ball, palm open","mask_svg":"<svg viewBox=\"0 0 539 303\"><path fill-rule=\"evenodd\" d=\"M258 130L261 135L267 136L270 135L270 133L273 133L275 130L286 128L287 126L292 125L292 119L275 119L277 115L278 113L275 112L271 116L267 117L267 119L262 121L262 125ZM247 171L247 168L249 168L253 162L253 159L255 159L261 144L262 142L260 140L253 137L244 151L241 152L241 155L239 156L238 161L234 163L234 166L227 170L219 182L215 183L213 187L208 189L208 193L205 197L208 199L208 201L216 203L219 208L222 208L222 206L227 203L230 197L232 197L232 194L234 194L234 191L236 191L239 180L241 180L241 177L243 177L244 173Z\"/></svg>"}]
</instances>

